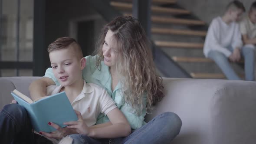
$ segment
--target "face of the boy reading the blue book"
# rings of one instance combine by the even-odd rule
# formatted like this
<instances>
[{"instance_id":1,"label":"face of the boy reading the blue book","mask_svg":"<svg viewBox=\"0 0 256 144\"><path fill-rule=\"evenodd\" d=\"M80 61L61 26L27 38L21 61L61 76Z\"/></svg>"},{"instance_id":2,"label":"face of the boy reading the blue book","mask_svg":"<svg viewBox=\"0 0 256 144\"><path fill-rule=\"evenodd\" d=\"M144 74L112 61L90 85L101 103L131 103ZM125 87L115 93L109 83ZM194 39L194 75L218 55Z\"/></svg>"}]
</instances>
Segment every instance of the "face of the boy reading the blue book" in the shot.
<instances>
[{"instance_id":1,"label":"face of the boy reading the blue book","mask_svg":"<svg viewBox=\"0 0 256 144\"><path fill-rule=\"evenodd\" d=\"M62 86L70 86L82 79L82 59L73 48L56 49L49 53L53 74ZM84 59L84 58L83 58Z\"/></svg>"}]
</instances>

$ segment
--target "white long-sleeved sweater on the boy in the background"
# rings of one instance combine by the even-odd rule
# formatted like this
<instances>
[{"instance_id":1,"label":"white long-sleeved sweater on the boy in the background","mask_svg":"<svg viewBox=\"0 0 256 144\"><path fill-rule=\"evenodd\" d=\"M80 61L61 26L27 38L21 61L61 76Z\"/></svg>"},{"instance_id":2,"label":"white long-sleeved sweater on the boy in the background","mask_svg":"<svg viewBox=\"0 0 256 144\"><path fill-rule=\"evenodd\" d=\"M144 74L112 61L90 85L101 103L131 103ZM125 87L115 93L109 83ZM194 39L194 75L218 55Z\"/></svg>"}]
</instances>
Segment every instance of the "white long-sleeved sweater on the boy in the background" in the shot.
<instances>
[{"instance_id":1,"label":"white long-sleeved sweater on the boy in the background","mask_svg":"<svg viewBox=\"0 0 256 144\"><path fill-rule=\"evenodd\" d=\"M203 54L208 57L210 50L215 50L229 57L232 52L226 48L228 46L232 46L233 49L243 46L239 24L236 22L226 24L221 17L218 16L212 20L208 28L203 46Z\"/></svg>"}]
</instances>

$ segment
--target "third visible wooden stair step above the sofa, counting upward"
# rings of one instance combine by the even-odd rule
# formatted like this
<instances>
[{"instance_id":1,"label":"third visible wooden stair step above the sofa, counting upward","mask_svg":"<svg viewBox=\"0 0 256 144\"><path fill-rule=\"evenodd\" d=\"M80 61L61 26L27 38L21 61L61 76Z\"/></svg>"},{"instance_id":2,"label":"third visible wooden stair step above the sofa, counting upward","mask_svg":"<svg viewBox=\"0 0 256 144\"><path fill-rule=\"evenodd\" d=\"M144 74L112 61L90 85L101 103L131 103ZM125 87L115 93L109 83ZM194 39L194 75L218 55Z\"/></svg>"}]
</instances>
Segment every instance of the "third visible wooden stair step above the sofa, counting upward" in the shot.
<instances>
[{"instance_id":1,"label":"third visible wooden stair step above the sofa, counting upward","mask_svg":"<svg viewBox=\"0 0 256 144\"><path fill-rule=\"evenodd\" d=\"M203 43L185 43L185 42L167 42L167 41L154 41L156 46L170 47L170 48L195 48L203 49Z\"/></svg>"}]
</instances>

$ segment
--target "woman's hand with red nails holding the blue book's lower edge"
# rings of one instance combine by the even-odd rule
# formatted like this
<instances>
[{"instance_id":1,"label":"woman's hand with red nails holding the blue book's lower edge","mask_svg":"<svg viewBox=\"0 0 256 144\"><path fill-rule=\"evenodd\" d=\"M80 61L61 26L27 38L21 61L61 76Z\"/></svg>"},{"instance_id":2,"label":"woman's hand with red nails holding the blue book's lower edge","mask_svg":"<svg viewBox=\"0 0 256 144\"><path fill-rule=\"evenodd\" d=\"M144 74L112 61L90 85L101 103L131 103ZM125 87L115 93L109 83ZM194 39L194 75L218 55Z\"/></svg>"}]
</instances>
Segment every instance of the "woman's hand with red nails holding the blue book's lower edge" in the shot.
<instances>
[{"instance_id":1,"label":"woman's hand with red nails holding the blue book's lower edge","mask_svg":"<svg viewBox=\"0 0 256 144\"><path fill-rule=\"evenodd\" d=\"M39 134L42 134L46 137L49 137L49 138L62 138L62 137L65 137L67 135L70 135L70 134L75 134L75 129L72 129L72 128L61 128L58 124L54 124L52 122L49 122L48 123L50 126L52 126L53 128L56 129L56 131L53 131L53 132L50 132L50 133L47 133L47 132L43 132L43 131L40 131Z\"/></svg>"}]
</instances>

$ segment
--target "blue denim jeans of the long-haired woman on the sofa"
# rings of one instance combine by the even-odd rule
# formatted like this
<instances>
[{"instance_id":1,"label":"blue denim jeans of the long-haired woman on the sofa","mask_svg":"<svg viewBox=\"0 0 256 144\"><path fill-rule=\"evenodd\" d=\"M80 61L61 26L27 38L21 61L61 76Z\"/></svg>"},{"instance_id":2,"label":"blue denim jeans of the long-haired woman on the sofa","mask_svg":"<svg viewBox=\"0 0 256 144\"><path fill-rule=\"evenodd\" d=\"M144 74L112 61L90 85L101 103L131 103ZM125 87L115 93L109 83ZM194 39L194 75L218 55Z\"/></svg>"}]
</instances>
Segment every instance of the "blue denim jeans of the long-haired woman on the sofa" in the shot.
<instances>
[{"instance_id":1,"label":"blue denim jeans of the long-haired woman on the sofa","mask_svg":"<svg viewBox=\"0 0 256 144\"><path fill-rule=\"evenodd\" d=\"M181 130L181 119L172 112L164 112L128 137L97 139L82 134L71 134L72 144L169 144ZM110 143L111 142L111 143Z\"/></svg>"}]
</instances>

